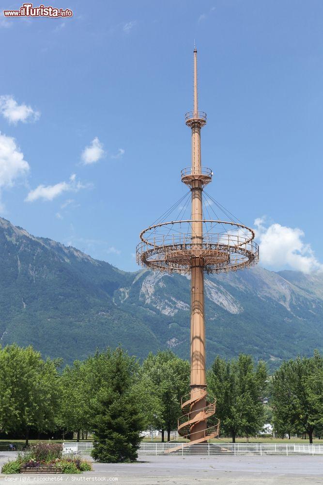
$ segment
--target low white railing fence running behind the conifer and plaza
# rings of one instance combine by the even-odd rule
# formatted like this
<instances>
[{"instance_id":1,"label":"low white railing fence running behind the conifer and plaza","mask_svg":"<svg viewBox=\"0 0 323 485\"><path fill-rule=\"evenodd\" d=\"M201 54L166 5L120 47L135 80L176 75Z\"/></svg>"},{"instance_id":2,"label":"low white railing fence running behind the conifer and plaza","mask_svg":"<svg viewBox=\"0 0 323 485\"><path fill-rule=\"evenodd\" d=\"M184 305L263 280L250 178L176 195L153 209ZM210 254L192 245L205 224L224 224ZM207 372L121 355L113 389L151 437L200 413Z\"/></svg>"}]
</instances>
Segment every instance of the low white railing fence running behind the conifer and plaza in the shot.
<instances>
[{"instance_id":1,"label":"low white railing fence running behind the conifer and plaza","mask_svg":"<svg viewBox=\"0 0 323 485\"><path fill-rule=\"evenodd\" d=\"M279 455L295 455L295 454L309 454L309 455L322 455L323 454L323 444L313 444L308 443L199 443L192 446L185 446L185 443L141 443L138 454L147 455L158 455L163 454L169 448L180 447L170 453L179 455L220 455L220 454L231 454L236 455L265 455L265 454L279 454ZM63 443L64 453L83 453L90 454L93 448L92 442L70 442Z\"/></svg>"}]
</instances>

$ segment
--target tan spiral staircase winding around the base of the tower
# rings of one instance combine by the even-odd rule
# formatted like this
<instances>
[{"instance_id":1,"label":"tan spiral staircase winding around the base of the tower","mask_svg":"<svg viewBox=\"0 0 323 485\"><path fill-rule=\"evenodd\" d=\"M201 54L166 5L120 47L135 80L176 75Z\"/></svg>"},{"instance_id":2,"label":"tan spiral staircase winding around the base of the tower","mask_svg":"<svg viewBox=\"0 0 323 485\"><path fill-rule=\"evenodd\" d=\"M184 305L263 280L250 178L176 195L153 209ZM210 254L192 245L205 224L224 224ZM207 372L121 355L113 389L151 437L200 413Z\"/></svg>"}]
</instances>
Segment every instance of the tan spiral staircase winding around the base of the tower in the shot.
<instances>
[{"instance_id":1,"label":"tan spiral staircase winding around the base of the tower","mask_svg":"<svg viewBox=\"0 0 323 485\"><path fill-rule=\"evenodd\" d=\"M199 406L199 403L201 407ZM220 420L217 420L217 423L209 428L206 424L206 420L215 414L215 405L216 399L207 394L206 388L201 388L193 393L183 396L181 402L183 415L178 420L178 434L190 441L169 448L165 453L172 453L183 447L203 443L208 439L219 436ZM194 431L194 428L203 421L205 423L205 428L202 426L201 429L201 426L199 426L199 430Z\"/></svg>"}]
</instances>

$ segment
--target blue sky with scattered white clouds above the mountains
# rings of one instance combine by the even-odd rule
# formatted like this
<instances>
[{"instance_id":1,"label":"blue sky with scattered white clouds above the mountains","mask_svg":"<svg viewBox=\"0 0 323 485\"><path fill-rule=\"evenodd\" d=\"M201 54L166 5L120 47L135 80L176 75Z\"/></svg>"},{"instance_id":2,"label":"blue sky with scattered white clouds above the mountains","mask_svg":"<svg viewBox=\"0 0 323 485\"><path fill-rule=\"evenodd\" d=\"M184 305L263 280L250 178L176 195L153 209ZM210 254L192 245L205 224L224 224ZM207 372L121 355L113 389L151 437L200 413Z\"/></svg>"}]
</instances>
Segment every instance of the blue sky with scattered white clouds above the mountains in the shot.
<instances>
[{"instance_id":1,"label":"blue sky with scattered white clouds above the mountains","mask_svg":"<svg viewBox=\"0 0 323 485\"><path fill-rule=\"evenodd\" d=\"M322 1L52 5L73 17L0 17L3 217L138 269L140 230L187 190L195 39L208 192L258 219L266 267L322 270Z\"/></svg>"}]
</instances>

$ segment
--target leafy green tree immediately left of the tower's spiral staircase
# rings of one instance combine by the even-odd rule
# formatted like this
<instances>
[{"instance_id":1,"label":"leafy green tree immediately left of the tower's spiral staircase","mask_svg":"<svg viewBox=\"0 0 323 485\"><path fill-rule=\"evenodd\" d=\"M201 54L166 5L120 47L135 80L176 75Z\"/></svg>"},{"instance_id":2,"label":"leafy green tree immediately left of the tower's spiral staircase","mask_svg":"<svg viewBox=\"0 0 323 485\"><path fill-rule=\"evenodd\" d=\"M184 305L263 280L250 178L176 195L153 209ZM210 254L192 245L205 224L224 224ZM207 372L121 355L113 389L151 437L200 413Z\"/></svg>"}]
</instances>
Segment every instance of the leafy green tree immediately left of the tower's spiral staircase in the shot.
<instances>
[{"instance_id":1,"label":"leafy green tree immediately left of the tower's spiral staircase","mask_svg":"<svg viewBox=\"0 0 323 485\"><path fill-rule=\"evenodd\" d=\"M177 420L182 414L181 397L189 392L189 373L189 362L169 350L159 351L156 355L150 353L142 364L142 374L150 379L150 392L159 403L156 428L161 431L162 441L165 430L169 441L170 431L177 428Z\"/></svg>"}]
</instances>

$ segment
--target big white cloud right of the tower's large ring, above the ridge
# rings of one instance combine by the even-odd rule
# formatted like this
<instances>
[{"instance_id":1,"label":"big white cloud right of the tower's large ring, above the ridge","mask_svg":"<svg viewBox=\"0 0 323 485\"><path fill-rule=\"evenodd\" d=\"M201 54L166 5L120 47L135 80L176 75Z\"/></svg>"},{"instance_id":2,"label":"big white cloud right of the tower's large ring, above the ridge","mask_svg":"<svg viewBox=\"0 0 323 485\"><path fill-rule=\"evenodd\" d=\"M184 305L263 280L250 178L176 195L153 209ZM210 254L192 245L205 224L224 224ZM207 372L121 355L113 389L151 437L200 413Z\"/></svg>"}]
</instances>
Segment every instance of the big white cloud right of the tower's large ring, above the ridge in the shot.
<instances>
[{"instance_id":1,"label":"big white cloud right of the tower's large ring, above the ridge","mask_svg":"<svg viewBox=\"0 0 323 485\"><path fill-rule=\"evenodd\" d=\"M316 259L310 244L302 241L305 234L301 229L280 224L265 227L264 217L256 219L254 224L260 260L264 266L274 269L289 267L303 273L323 271L323 264Z\"/></svg>"}]
</instances>

